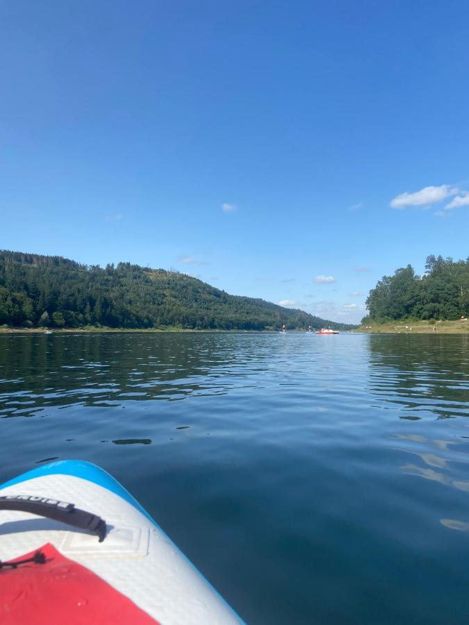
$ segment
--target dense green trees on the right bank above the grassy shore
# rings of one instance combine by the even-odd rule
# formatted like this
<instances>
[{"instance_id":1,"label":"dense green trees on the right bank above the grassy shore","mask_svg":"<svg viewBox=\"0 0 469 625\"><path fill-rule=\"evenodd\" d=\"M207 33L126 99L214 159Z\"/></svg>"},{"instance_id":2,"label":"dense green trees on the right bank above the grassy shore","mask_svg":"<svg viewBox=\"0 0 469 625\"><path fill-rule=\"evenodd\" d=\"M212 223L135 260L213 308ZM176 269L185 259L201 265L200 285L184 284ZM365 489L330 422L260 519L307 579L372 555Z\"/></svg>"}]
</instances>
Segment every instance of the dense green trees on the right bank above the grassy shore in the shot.
<instances>
[{"instance_id":1,"label":"dense green trees on the right bank above the grassy shore","mask_svg":"<svg viewBox=\"0 0 469 625\"><path fill-rule=\"evenodd\" d=\"M469 315L469 258L428 256L425 274L411 265L384 276L370 291L362 323L397 319L459 319Z\"/></svg>"}]
</instances>

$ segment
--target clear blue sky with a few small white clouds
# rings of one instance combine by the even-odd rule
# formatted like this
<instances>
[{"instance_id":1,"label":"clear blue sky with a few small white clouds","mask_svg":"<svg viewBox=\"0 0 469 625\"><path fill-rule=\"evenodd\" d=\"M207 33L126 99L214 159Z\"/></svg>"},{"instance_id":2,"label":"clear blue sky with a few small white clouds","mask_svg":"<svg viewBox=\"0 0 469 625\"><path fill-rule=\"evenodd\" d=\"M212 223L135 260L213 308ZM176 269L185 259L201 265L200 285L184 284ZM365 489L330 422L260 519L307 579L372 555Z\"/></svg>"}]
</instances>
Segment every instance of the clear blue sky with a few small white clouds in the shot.
<instances>
[{"instance_id":1,"label":"clear blue sky with a few small white clouds","mask_svg":"<svg viewBox=\"0 0 469 625\"><path fill-rule=\"evenodd\" d=\"M0 6L0 247L336 320L469 255L469 4Z\"/></svg>"}]
</instances>

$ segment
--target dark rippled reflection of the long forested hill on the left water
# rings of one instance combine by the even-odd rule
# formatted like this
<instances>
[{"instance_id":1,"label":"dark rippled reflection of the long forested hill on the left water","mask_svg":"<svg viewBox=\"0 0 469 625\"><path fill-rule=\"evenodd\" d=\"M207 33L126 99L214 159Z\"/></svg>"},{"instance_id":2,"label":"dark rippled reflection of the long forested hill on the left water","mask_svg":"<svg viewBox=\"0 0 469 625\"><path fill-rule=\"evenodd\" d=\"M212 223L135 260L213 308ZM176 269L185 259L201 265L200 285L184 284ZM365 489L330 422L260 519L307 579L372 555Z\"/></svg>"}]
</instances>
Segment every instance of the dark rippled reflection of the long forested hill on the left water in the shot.
<instances>
[{"instance_id":1,"label":"dark rippled reflection of the long forested hill on the left water","mask_svg":"<svg viewBox=\"0 0 469 625\"><path fill-rule=\"evenodd\" d=\"M233 348L236 335L54 334L0 337L0 416L30 416L44 406L116 406L124 400L177 401L224 394L263 347ZM237 341L239 342L239 335ZM265 348L264 348L265 349Z\"/></svg>"}]
</instances>

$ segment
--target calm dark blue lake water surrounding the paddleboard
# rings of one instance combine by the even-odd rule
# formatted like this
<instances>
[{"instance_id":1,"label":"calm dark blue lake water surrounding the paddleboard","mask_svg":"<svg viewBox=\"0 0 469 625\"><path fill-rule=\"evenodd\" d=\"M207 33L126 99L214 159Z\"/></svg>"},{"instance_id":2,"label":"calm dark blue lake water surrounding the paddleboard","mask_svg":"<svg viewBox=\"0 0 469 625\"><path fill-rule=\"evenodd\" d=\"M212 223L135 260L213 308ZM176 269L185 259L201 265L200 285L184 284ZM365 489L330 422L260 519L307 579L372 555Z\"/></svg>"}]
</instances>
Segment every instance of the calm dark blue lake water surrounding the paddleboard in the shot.
<instances>
[{"instance_id":1,"label":"calm dark blue lake water surrounding the paddleboard","mask_svg":"<svg viewBox=\"0 0 469 625\"><path fill-rule=\"evenodd\" d=\"M250 624L469 622L467 335L0 335L0 417L0 481L96 462Z\"/></svg>"}]
</instances>

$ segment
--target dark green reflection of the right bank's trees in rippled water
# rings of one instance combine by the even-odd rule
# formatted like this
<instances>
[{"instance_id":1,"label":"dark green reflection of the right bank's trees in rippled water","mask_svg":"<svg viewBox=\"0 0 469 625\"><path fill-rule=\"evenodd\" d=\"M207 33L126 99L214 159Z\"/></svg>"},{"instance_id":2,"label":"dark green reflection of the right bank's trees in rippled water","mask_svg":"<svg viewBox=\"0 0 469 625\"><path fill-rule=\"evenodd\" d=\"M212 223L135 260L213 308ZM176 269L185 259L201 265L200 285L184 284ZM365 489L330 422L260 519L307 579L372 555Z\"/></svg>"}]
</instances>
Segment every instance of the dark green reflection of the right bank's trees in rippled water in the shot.
<instances>
[{"instance_id":1,"label":"dark green reflection of the right bank's trees in rippled water","mask_svg":"<svg viewBox=\"0 0 469 625\"><path fill-rule=\"evenodd\" d=\"M402 419L469 416L468 336L370 335L369 349L370 391Z\"/></svg>"}]
</instances>

